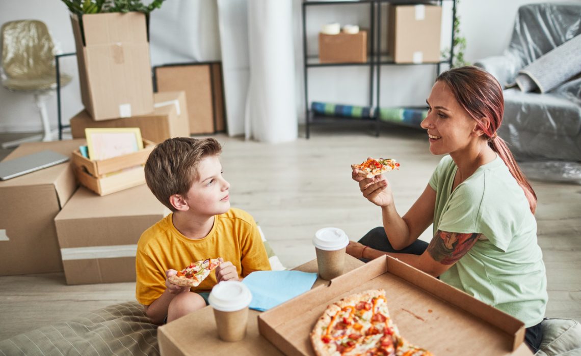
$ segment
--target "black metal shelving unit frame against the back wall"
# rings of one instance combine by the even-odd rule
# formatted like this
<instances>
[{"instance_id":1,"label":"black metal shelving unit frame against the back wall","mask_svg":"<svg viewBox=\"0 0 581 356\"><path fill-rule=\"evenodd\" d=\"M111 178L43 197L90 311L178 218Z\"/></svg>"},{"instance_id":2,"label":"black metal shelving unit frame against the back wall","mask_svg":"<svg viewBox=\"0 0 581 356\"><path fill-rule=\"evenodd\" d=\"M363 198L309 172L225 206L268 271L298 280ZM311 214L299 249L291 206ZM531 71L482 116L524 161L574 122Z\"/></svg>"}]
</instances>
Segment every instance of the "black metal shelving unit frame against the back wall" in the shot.
<instances>
[{"instance_id":1,"label":"black metal shelving unit frame against the back wall","mask_svg":"<svg viewBox=\"0 0 581 356\"><path fill-rule=\"evenodd\" d=\"M444 0L437 1L437 4L442 6ZM442 60L437 63L394 63L393 59L381 53L381 5L382 3L396 3L394 0L356 0L356 1L308 1L303 0L302 14L303 14L303 75L304 75L304 102L305 102L305 123L306 123L306 138L310 137L310 125L313 123L332 124L338 121L360 121L365 123L375 123L375 136L379 136L379 108L381 100L379 94L381 92L381 67L382 66L436 66L436 73L440 73L440 64L448 64L451 66L454 53L454 17L456 17L456 0L449 0L453 2L452 5L452 38L450 45L450 58ZM401 2L399 2L401 3ZM353 4L367 4L370 8L370 50L367 62L365 63L320 63L318 56L309 56L307 53L307 7L309 6L324 6L324 5L353 5ZM411 5L411 4L410 4ZM375 21L376 20L376 21ZM374 115L371 118L348 118L348 117L332 117L332 116L318 116L309 109L309 69L317 67L349 67L349 66L368 66L370 70L370 99L369 106L374 108ZM374 106L374 74L375 74L375 102ZM436 75L437 75L436 74Z\"/></svg>"}]
</instances>

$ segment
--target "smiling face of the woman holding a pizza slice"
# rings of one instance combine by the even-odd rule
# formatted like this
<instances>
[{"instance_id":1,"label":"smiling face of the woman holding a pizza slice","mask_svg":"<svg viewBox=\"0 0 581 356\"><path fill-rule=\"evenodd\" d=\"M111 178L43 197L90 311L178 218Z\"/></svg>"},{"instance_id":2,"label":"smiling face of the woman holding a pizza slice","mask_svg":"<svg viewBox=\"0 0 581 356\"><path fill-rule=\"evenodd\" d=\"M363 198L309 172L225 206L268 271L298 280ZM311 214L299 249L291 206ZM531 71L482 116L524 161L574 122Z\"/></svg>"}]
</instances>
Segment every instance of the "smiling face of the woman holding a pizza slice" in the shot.
<instances>
[{"instance_id":1,"label":"smiling face of the woman holding a pizza slice","mask_svg":"<svg viewBox=\"0 0 581 356\"><path fill-rule=\"evenodd\" d=\"M476 121L456 101L444 82L436 82L426 100L428 116L422 128L428 130L430 152L435 155L454 154L467 150L478 136L474 135Z\"/></svg>"}]
</instances>

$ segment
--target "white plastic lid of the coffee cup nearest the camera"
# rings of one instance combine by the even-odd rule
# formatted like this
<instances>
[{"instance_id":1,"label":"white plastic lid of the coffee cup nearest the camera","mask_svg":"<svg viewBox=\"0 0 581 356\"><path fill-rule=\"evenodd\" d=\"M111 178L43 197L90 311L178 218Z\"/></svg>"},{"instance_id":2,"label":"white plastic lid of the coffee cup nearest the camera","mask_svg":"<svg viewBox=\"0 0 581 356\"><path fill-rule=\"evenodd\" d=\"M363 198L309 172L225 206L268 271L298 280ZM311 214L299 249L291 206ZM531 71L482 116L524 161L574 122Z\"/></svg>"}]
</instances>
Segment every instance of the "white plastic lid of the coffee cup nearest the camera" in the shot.
<instances>
[{"instance_id":1,"label":"white plastic lid of the coffee cup nearest the camera","mask_svg":"<svg viewBox=\"0 0 581 356\"><path fill-rule=\"evenodd\" d=\"M250 289L239 281L222 281L212 288L208 302L216 310L236 311L246 308L252 301Z\"/></svg>"}]
</instances>

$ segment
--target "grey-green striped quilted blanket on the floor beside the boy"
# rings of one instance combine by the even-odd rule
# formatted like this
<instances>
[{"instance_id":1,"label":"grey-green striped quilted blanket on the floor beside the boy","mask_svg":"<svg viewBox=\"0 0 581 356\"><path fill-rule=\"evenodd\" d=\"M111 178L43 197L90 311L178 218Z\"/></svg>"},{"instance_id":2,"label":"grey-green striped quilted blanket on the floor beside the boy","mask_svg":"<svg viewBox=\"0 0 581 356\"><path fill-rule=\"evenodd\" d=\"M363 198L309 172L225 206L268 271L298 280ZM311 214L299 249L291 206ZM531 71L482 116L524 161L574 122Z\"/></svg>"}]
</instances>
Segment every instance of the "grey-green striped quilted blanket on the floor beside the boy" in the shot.
<instances>
[{"instance_id":1,"label":"grey-green striped quilted blanket on the floor beside the boy","mask_svg":"<svg viewBox=\"0 0 581 356\"><path fill-rule=\"evenodd\" d=\"M159 355L157 325L137 302L114 304L3 340L0 355Z\"/></svg>"}]
</instances>

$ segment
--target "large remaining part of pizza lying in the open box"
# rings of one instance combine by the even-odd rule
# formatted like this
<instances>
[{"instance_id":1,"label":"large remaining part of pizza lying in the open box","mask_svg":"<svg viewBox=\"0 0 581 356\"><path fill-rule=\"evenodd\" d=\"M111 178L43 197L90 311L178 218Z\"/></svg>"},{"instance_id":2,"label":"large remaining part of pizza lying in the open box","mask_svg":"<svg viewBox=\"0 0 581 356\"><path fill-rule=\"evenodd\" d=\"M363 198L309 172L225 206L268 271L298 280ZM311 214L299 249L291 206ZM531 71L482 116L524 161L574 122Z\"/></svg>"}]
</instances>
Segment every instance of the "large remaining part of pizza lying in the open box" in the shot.
<instances>
[{"instance_id":1,"label":"large remaining part of pizza lying in the open box","mask_svg":"<svg viewBox=\"0 0 581 356\"><path fill-rule=\"evenodd\" d=\"M318 356L432 356L400 335L389 317L383 289L357 293L328 306L311 332L311 344Z\"/></svg>"}]
</instances>

